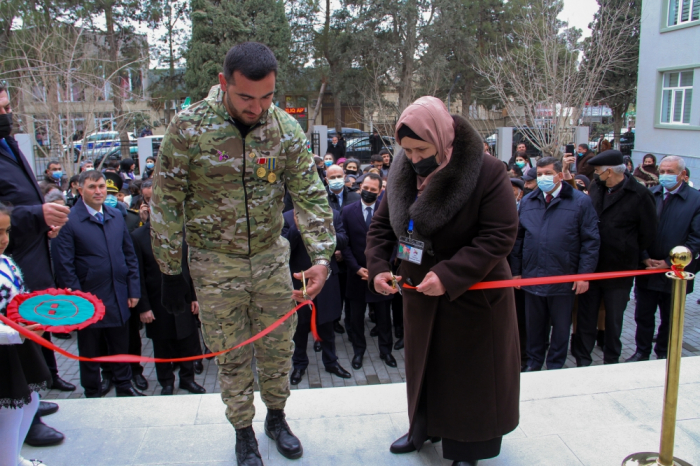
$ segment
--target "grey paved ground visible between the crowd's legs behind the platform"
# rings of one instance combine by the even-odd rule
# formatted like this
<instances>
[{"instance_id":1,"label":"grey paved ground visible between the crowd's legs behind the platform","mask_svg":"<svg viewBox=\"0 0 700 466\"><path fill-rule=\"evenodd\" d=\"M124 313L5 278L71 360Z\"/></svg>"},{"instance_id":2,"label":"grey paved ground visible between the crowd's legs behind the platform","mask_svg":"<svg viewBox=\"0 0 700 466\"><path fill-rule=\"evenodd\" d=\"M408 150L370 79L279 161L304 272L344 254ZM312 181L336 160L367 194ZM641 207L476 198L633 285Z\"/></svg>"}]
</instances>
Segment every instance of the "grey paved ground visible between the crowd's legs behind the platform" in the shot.
<instances>
[{"instance_id":1,"label":"grey paved ground visible between the crowd's legs behind the platform","mask_svg":"<svg viewBox=\"0 0 700 466\"><path fill-rule=\"evenodd\" d=\"M700 355L700 305L697 304L698 298L700 298L700 292L695 292L688 296L686 302L683 356ZM634 306L634 296L632 296L625 313L622 332L623 360L631 356L635 350L634 333L636 325L634 322ZM379 359L377 338L372 338L369 336L369 330L372 326L373 324L369 320L365 321L365 337L367 339L368 348L364 358L364 365L359 371L353 370L350 366L350 359L353 352L352 345L347 340L347 333L343 335L336 335L336 347L339 362L341 366L343 366L353 375L353 377L350 379L340 379L325 372L323 369L323 364L321 363L321 353L315 353L313 351L313 342L312 339L309 338L309 368L306 375L304 375L302 382L293 388L330 388L405 382L406 371L404 369L403 350L394 351L393 353L398 367L391 368L386 366L386 364ZM144 356L153 356L153 345L151 344L151 340L146 338L144 334L142 341L142 351ZM55 343L73 354L78 354L75 334L73 334L73 338L70 340L55 339ZM44 399L83 398L83 389L80 387L79 380L78 362L64 358L60 355L57 355L57 358L60 376L64 380L73 383L78 388L75 392L59 392L57 390L50 390L46 393L42 393L42 397ZM652 358L654 358L654 356L652 356ZM600 348L596 347L593 353L593 364L598 365L602 363L603 353ZM569 355L566 367L576 367L576 362L573 356ZM160 394L160 386L156 380L155 366L152 363L147 363L144 365L144 376L149 382L149 388L146 390L146 393L148 395ZM196 376L196 381L206 388L208 393L218 393L220 391L219 383L216 379L216 364L213 360L204 360L204 372ZM175 388L175 394L187 393L178 390L177 384ZM114 389L112 389L107 396L115 396Z\"/></svg>"}]
</instances>

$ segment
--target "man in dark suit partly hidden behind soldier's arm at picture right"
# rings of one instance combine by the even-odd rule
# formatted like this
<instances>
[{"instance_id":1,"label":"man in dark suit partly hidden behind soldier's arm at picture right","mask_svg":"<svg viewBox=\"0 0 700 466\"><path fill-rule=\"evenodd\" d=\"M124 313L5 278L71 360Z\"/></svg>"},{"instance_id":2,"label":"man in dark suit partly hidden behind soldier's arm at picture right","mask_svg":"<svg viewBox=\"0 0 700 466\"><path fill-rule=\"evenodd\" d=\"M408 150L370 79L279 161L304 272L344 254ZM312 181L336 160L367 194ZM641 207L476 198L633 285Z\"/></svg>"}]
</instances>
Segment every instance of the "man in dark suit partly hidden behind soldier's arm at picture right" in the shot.
<instances>
[{"instance_id":1,"label":"man in dark suit partly hidden behind soldier's arm at picture right","mask_svg":"<svg viewBox=\"0 0 700 466\"><path fill-rule=\"evenodd\" d=\"M343 248L348 242L348 237L343 228L338 211L333 211L333 226L335 227L336 248ZM295 273L308 270L311 267L311 259L306 251L301 238L299 228L297 228L296 212L290 210L284 213L284 227L282 236L287 238L290 247L289 271L292 273L292 282L295 289L301 289L301 281L294 278ZM350 373L338 364L338 356L335 354L335 332L333 322L340 317L342 311L342 298L340 294L340 284L338 283L338 264L331 256L331 276L326 280L321 292L314 298L316 306L316 329L321 338L321 360L326 372L337 375L342 379L349 379ZM309 341L309 331L311 330L311 309L305 307L297 312L299 320L294 332L294 354L292 364L294 370L290 376L292 385L301 382L301 378L309 365L309 357L306 354L306 346Z\"/></svg>"}]
</instances>

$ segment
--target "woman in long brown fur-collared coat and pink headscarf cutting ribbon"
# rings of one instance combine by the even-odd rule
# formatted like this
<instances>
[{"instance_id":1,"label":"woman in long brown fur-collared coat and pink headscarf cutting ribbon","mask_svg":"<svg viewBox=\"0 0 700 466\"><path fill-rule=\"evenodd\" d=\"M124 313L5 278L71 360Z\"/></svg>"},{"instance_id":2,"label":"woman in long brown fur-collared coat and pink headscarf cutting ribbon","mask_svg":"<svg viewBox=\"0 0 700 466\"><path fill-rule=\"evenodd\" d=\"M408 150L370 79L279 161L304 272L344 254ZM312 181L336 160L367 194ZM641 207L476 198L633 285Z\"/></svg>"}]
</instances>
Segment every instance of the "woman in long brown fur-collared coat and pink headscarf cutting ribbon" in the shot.
<instances>
[{"instance_id":1,"label":"woman in long brown fur-collared coat and pink headscarf cutting ribbon","mask_svg":"<svg viewBox=\"0 0 700 466\"><path fill-rule=\"evenodd\" d=\"M397 123L404 149L367 236L370 288L395 292L394 246L424 243L420 264L403 260L408 434L393 453L443 440L443 456L476 465L500 453L519 419L520 352L512 288L469 291L511 278L506 257L518 215L503 163L484 155L482 139L442 101L422 97ZM417 261L416 261L417 262Z\"/></svg>"}]
</instances>

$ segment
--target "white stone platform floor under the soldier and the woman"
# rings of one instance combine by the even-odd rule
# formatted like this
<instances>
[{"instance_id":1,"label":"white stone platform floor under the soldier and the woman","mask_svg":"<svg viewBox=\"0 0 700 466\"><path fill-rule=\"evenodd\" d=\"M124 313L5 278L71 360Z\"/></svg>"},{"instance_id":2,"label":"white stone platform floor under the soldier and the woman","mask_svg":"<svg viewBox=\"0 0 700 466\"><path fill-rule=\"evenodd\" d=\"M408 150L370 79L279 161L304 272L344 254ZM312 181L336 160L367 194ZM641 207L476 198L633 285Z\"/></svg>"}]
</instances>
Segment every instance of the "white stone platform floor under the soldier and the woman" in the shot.
<instances>
[{"instance_id":1,"label":"white stone platform floor under the soldier and the woman","mask_svg":"<svg viewBox=\"0 0 700 466\"><path fill-rule=\"evenodd\" d=\"M658 451L665 361L523 374L519 426L483 466L616 466ZM287 460L264 433L255 397L253 428L266 466L449 466L442 443L393 455L406 433L406 385L297 390L285 408L304 455ZM51 466L234 466L235 433L216 394L62 400L46 418L56 446L24 446ZM700 464L700 358L681 372L674 455Z\"/></svg>"}]
</instances>

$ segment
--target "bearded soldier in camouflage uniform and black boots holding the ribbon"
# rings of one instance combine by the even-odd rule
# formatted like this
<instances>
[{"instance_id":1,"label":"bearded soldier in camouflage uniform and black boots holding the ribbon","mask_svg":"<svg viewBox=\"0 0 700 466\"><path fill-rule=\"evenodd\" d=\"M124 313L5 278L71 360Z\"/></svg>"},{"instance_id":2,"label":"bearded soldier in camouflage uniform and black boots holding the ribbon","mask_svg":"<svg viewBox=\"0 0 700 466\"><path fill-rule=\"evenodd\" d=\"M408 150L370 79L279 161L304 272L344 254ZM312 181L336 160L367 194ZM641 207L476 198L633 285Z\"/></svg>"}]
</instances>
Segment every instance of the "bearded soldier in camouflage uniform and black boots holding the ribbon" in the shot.
<instances>
[{"instance_id":1,"label":"bearded soldier in camouflage uniform and black boots holding the ribbon","mask_svg":"<svg viewBox=\"0 0 700 466\"><path fill-rule=\"evenodd\" d=\"M276 69L264 45L233 47L220 85L170 123L154 171L152 242L164 274L163 304L182 310L184 224L204 339L212 351L250 338L294 306L289 243L280 236L285 186L315 264L306 272L309 295L321 290L335 250L332 211L304 133L272 105ZM262 464L252 429L253 355L268 408L265 431L284 456L302 455L283 412L295 327L296 315L253 345L217 357L239 465Z\"/></svg>"}]
</instances>

